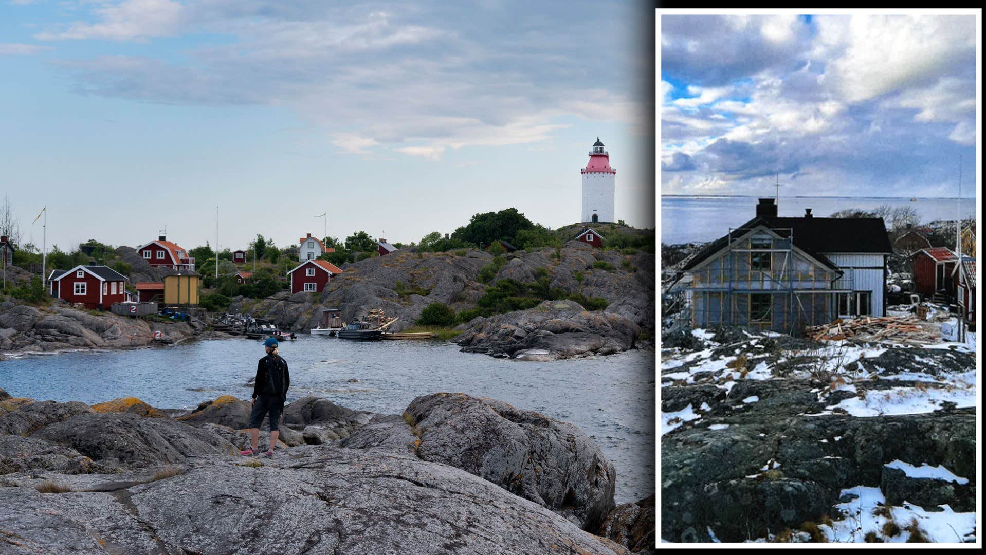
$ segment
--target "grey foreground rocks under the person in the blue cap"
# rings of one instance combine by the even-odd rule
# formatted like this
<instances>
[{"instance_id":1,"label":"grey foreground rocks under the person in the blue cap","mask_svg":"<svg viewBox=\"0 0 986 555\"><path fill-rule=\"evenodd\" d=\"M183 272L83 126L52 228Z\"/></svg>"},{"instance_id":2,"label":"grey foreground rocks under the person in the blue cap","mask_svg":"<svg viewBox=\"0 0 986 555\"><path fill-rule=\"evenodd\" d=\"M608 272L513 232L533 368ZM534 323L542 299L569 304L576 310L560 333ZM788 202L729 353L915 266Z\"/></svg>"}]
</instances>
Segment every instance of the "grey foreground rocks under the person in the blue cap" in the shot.
<instances>
[{"instance_id":1,"label":"grey foreground rocks under the person in the blue cap","mask_svg":"<svg viewBox=\"0 0 986 555\"><path fill-rule=\"evenodd\" d=\"M612 464L539 413L463 393L401 415L305 397L271 458L235 454L248 414L228 395L178 411L0 389L0 550L656 551L654 497L614 506Z\"/></svg>"}]
</instances>

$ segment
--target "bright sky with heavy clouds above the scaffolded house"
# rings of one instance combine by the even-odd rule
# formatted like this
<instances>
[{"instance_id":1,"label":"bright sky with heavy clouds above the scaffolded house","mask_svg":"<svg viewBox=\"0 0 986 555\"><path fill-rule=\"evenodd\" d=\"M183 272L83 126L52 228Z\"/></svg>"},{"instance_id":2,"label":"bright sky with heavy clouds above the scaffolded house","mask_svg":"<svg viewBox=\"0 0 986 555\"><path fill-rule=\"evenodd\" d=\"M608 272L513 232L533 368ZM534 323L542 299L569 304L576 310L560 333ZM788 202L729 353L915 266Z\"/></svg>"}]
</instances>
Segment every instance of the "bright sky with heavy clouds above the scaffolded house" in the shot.
<instances>
[{"instance_id":1,"label":"bright sky with heavy clouds above the scaffolded house","mask_svg":"<svg viewBox=\"0 0 986 555\"><path fill-rule=\"evenodd\" d=\"M975 196L973 16L663 16L662 194Z\"/></svg>"}]
</instances>

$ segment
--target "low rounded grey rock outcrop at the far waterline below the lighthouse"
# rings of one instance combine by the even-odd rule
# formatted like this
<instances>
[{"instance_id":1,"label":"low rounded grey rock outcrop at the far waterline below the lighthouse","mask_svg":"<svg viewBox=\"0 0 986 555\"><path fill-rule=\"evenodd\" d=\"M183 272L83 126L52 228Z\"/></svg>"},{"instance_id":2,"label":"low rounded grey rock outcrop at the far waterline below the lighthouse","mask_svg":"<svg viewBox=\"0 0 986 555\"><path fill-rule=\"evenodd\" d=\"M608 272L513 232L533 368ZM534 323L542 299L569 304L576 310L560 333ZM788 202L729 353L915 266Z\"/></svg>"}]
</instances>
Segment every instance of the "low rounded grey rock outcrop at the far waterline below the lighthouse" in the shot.
<instances>
[{"instance_id":1,"label":"low rounded grey rock outcrop at the far waterline below the lighthouse","mask_svg":"<svg viewBox=\"0 0 986 555\"><path fill-rule=\"evenodd\" d=\"M463 351L522 361L611 355L634 346L640 326L612 312L588 312L574 301L544 301L529 311L470 322Z\"/></svg>"}]
</instances>

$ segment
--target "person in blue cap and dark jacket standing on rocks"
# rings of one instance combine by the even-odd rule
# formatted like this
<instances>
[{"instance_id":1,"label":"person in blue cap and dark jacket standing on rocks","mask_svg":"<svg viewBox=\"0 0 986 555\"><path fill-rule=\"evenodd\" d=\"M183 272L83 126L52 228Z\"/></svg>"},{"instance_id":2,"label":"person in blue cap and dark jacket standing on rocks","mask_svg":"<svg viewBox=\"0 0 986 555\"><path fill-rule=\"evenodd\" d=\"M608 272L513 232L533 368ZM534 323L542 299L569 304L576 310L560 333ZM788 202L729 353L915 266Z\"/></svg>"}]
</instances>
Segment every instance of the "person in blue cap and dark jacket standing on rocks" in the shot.
<instances>
[{"instance_id":1,"label":"person in blue cap and dark jacket standing on rocks","mask_svg":"<svg viewBox=\"0 0 986 555\"><path fill-rule=\"evenodd\" d=\"M266 415L270 418L270 448L265 453L274 455L277 445L278 423L284 410L284 401L291 385L291 375L288 374L288 363L277 354L277 339L268 337L263 342L267 356L256 363L256 379L253 381L253 397L250 400L249 439L250 447L240 454L253 455L259 451L256 448L260 439L260 423Z\"/></svg>"}]
</instances>

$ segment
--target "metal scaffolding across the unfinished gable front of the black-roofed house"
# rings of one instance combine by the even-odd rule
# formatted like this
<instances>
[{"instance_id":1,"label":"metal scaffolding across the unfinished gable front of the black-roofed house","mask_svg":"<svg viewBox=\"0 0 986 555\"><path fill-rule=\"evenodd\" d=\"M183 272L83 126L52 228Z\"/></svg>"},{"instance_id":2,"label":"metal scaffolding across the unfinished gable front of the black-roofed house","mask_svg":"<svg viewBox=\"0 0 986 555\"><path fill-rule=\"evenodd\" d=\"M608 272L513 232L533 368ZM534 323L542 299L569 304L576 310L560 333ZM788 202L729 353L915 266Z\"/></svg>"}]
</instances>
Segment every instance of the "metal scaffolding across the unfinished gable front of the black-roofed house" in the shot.
<instances>
[{"instance_id":1,"label":"metal scaffolding across the unfinished gable front of the black-roofed house","mask_svg":"<svg viewBox=\"0 0 986 555\"><path fill-rule=\"evenodd\" d=\"M801 334L805 327L831 321L838 294L853 290L852 272L820 265L794 247L791 228L729 229L721 252L689 270L682 287L691 327L715 324ZM684 322L682 322L684 323Z\"/></svg>"}]
</instances>

